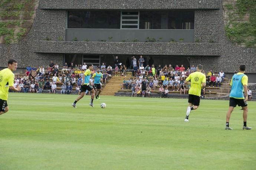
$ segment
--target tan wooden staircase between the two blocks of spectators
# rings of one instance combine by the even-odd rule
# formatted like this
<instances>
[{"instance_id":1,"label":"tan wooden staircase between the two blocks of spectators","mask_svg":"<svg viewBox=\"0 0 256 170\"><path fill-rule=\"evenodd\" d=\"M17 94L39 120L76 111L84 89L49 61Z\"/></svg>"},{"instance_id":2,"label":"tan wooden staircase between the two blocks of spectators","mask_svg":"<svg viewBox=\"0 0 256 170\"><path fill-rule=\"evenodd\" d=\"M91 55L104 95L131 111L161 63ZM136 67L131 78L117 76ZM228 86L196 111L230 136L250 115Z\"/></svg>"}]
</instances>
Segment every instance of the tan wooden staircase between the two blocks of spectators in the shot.
<instances>
[{"instance_id":1,"label":"tan wooden staircase between the two blocks of spectators","mask_svg":"<svg viewBox=\"0 0 256 170\"><path fill-rule=\"evenodd\" d=\"M116 92L118 92L122 86L120 84L123 83L124 77L121 76L112 76L108 79L108 83L102 89L101 95L111 95L114 96Z\"/></svg>"}]
</instances>

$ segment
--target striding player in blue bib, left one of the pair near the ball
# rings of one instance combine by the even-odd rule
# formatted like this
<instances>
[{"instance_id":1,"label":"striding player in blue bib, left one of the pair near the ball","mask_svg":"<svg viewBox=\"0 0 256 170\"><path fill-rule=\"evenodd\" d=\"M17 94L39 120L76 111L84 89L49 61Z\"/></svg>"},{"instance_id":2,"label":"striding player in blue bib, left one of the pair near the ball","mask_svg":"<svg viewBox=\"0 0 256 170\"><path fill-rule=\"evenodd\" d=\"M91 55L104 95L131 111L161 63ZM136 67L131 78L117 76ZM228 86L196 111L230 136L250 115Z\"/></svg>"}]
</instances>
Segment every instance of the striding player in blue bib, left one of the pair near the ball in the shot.
<instances>
[{"instance_id":1,"label":"striding player in blue bib, left one of the pair near the ball","mask_svg":"<svg viewBox=\"0 0 256 170\"><path fill-rule=\"evenodd\" d=\"M91 78L91 75L92 75L92 69L93 69L93 65L91 63L89 63L87 65L88 69L86 69L85 71L85 81L84 83L81 85L81 93L80 95L78 96L78 98L75 100L75 102L72 104L72 106L74 108L76 108L76 103L83 98L83 96L85 95L85 91L88 90L88 91L91 91L91 102L90 102L90 106L94 107L93 106L93 99L94 99L94 96L95 96L95 90L93 89L93 87L89 84L89 80Z\"/></svg>"}]
</instances>

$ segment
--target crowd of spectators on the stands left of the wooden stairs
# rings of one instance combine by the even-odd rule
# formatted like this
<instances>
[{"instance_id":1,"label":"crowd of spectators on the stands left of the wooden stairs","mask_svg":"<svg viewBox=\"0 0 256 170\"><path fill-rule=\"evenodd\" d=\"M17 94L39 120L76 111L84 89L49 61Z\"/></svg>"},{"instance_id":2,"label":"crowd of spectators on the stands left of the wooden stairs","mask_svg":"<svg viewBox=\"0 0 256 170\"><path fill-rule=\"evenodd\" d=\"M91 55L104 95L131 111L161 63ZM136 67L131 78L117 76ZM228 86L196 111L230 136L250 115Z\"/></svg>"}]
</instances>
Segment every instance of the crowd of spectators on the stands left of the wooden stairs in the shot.
<instances>
[{"instance_id":1,"label":"crowd of spectators on the stands left of the wooden stairs","mask_svg":"<svg viewBox=\"0 0 256 170\"><path fill-rule=\"evenodd\" d=\"M106 68L102 63L101 72L103 72L102 84L107 83L108 76L112 74L112 67ZM70 94L72 91L76 91L78 94L81 92L81 84L83 83L83 74L87 69L86 63L68 65L65 63L62 68L59 65L50 62L47 69L41 67L27 66L24 76L15 77L14 86L20 86L21 92L27 93L42 93L43 90L49 93L56 93L57 85L61 85L61 94ZM95 73L95 69L92 70L92 74ZM124 71L122 73L125 73ZM91 85L93 85L93 79L90 79ZM88 93L88 92L86 92Z\"/></svg>"}]
</instances>

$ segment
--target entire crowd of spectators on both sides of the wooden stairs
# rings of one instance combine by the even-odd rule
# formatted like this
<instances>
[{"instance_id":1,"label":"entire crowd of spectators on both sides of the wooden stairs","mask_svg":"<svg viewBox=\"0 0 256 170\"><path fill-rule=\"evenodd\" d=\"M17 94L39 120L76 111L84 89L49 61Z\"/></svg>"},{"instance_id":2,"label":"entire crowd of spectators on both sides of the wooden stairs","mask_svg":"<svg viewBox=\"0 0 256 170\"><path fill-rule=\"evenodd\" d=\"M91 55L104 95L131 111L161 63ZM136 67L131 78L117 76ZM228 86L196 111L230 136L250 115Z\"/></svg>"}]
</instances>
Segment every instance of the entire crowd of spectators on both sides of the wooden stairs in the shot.
<instances>
[{"instance_id":1,"label":"entire crowd of spectators on both sides of the wooden stairs","mask_svg":"<svg viewBox=\"0 0 256 170\"><path fill-rule=\"evenodd\" d=\"M192 65L191 68L185 68L184 65L175 65L173 67L171 64L164 66L162 65L146 65L144 67L144 58L140 56L137 59L133 56L132 58L132 76L135 78L125 79L121 84L122 89L131 89L132 95L137 96L139 94L142 97L148 96L152 91L158 89L158 93L161 97L167 97L170 91L178 91L180 94L186 94L190 86L184 84L185 79L193 72L196 71L196 67ZM126 77L127 67L122 65L116 56L114 60L114 68L111 65L108 67L105 63L97 66L100 68L103 78L101 80L102 84L107 83L109 76L112 76L113 72L115 76L124 76ZM42 90L46 90L49 93L56 93L57 85L61 85L60 93L70 94L72 91L80 93L81 84L83 82L83 74L86 70L86 63L82 64L73 64L70 65L65 63L63 67L59 67L56 63L50 62L47 69L44 67L31 67L28 65L24 76L18 76L15 78L14 86L20 86L22 92L31 92L31 93L42 93ZM206 84L207 86L221 86L225 74L223 71L215 74L212 70L209 72L202 71L206 75ZM95 69L92 70L92 74L95 73ZM217 75L217 76L216 76ZM52 76L52 78L50 78ZM113 75L114 76L114 75ZM151 77L151 79L149 79ZM90 79L90 84L93 85L93 78ZM204 94L205 89L202 90ZM87 92L86 92L87 93Z\"/></svg>"}]
</instances>

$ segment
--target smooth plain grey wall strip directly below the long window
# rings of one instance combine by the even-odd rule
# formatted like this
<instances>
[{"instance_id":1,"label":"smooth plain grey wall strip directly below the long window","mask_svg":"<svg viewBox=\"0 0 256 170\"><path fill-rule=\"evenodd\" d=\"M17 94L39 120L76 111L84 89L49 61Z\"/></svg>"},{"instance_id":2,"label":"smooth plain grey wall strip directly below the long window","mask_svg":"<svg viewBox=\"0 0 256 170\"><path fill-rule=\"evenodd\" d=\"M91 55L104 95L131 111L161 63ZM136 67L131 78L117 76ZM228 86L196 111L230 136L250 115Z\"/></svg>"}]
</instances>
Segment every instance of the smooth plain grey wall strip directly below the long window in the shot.
<instances>
[{"instance_id":1,"label":"smooth plain grey wall strip directly below the long window","mask_svg":"<svg viewBox=\"0 0 256 170\"><path fill-rule=\"evenodd\" d=\"M66 41L194 42L194 30L66 29Z\"/></svg>"}]
</instances>

